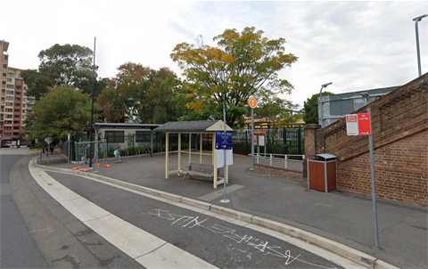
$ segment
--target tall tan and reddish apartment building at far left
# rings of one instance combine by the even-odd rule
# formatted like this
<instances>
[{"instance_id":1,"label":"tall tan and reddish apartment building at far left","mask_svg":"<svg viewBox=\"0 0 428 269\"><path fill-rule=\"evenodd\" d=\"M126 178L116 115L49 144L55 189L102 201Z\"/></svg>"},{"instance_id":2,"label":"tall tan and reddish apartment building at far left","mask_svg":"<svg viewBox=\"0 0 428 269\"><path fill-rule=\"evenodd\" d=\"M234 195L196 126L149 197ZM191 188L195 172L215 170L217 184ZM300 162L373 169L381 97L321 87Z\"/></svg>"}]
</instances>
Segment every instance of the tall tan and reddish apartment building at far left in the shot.
<instances>
[{"instance_id":1,"label":"tall tan and reddish apartment building at far left","mask_svg":"<svg viewBox=\"0 0 428 269\"><path fill-rule=\"evenodd\" d=\"M0 40L0 142L4 143L12 143L20 133L26 133L24 120L34 105L34 98L26 96L27 86L20 75L21 69L9 67L8 48L9 42Z\"/></svg>"}]
</instances>

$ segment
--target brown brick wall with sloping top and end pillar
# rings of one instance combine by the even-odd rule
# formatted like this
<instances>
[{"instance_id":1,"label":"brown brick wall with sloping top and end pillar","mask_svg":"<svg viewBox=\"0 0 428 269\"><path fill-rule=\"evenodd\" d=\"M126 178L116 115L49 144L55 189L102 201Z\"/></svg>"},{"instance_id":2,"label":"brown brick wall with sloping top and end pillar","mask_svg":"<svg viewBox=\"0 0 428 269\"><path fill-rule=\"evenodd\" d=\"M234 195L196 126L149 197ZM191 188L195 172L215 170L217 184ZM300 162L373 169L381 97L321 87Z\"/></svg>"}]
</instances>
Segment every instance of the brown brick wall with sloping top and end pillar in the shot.
<instances>
[{"instance_id":1,"label":"brown brick wall with sloping top and end pillar","mask_svg":"<svg viewBox=\"0 0 428 269\"><path fill-rule=\"evenodd\" d=\"M427 81L428 73L355 112L366 112L368 107L372 110L377 196L425 207L428 207ZM337 156L339 189L371 195L368 136L346 135L344 118L323 129L311 130L307 136L305 129L305 151ZM315 149L307 150L306 146Z\"/></svg>"}]
</instances>

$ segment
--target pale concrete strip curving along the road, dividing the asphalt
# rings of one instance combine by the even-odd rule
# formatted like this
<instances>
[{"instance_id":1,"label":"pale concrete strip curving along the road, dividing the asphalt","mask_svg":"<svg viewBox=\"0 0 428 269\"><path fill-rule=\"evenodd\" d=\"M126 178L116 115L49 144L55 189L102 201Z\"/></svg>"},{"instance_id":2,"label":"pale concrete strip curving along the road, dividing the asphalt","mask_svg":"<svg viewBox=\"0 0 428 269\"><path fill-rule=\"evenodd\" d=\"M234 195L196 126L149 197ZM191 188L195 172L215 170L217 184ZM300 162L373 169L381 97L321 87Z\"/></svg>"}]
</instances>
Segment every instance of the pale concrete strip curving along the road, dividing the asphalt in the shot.
<instances>
[{"instance_id":1,"label":"pale concrete strip curving along the road, dividing the asphalt","mask_svg":"<svg viewBox=\"0 0 428 269\"><path fill-rule=\"evenodd\" d=\"M55 181L43 169L34 167L31 162L29 172L45 192L62 204L62 207L144 267L217 268L96 206ZM78 197L80 198L76 199ZM201 222L196 220L192 226L197 224Z\"/></svg>"}]
</instances>

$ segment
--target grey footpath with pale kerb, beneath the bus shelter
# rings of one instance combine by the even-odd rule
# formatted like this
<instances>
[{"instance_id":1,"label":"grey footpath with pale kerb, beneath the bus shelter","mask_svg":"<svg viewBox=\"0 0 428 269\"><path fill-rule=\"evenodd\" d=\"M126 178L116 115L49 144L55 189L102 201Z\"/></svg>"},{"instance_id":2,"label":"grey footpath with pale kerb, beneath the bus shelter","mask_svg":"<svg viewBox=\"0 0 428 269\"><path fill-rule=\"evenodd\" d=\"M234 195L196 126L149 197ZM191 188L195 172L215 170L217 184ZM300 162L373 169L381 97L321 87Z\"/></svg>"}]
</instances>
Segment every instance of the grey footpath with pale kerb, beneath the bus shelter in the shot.
<instances>
[{"instance_id":1,"label":"grey footpath with pale kerb, beneath the bus shelter","mask_svg":"<svg viewBox=\"0 0 428 269\"><path fill-rule=\"evenodd\" d=\"M193 159L194 158L194 159ZM194 155L193 161L199 161ZM204 159L202 162L210 162ZM129 188L208 208L226 216L284 232L358 262L361 268L428 268L428 208L378 199L379 249L374 248L371 197L350 192L317 192L306 183L251 171L252 159L234 155L224 199L223 187L183 175L165 178L165 155L107 161L111 167L72 170L55 152L37 159L38 166L75 175L91 175ZM188 163L182 154L182 166ZM81 166L80 166L81 167ZM182 168L183 168L182 167ZM83 168L83 167L82 167ZM177 154L169 157L169 170L177 169ZM220 172L221 175L222 172Z\"/></svg>"}]
</instances>

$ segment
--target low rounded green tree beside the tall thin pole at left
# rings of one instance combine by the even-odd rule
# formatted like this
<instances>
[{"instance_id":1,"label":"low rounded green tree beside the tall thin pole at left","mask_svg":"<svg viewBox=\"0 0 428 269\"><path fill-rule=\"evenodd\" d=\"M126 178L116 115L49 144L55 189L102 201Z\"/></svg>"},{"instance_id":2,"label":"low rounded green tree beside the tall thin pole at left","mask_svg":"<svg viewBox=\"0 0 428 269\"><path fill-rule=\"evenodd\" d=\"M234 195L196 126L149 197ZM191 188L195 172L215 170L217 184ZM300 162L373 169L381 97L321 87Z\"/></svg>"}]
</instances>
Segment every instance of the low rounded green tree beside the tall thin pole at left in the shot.
<instances>
[{"instance_id":1,"label":"low rounded green tree beside the tall thin pole at left","mask_svg":"<svg viewBox=\"0 0 428 269\"><path fill-rule=\"evenodd\" d=\"M31 125L30 140L43 141L46 137L65 140L67 135L83 134L91 118L91 98L70 86L54 87L45 97L34 104L34 112L29 113ZM95 112L100 110L95 104Z\"/></svg>"}]
</instances>

